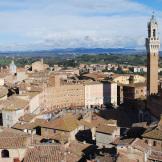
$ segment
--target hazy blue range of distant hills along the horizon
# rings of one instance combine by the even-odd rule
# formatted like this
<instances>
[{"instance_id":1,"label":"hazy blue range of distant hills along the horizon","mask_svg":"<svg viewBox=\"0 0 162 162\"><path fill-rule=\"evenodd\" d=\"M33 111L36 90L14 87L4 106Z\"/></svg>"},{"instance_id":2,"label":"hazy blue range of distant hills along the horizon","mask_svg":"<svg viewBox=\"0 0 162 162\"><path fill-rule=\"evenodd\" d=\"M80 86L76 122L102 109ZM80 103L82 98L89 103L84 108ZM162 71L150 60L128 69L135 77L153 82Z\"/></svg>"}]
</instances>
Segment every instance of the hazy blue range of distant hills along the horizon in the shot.
<instances>
[{"instance_id":1,"label":"hazy blue range of distant hills along the horizon","mask_svg":"<svg viewBox=\"0 0 162 162\"><path fill-rule=\"evenodd\" d=\"M127 48L66 48L51 49L38 51L12 51L2 52L0 56L33 56L33 57L49 57L49 56L73 56L82 54L121 54L121 55L145 55L145 50L127 49ZM162 56L162 52L160 52Z\"/></svg>"}]
</instances>

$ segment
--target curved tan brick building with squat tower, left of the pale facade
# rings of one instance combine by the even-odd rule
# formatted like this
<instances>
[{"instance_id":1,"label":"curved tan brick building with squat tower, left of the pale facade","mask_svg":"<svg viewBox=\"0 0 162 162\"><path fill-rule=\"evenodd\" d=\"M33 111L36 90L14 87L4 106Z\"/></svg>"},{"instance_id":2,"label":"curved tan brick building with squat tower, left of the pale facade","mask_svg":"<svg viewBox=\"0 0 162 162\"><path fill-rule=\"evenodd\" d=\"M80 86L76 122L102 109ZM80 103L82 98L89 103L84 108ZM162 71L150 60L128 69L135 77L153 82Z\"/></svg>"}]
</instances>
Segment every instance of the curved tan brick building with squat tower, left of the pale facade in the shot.
<instances>
[{"instance_id":1,"label":"curved tan brick building with squat tower, left of the pale facade","mask_svg":"<svg viewBox=\"0 0 162 162\"><path fill-rule=\"evenodd\" d=\"M62 81L59 75L51 76L43 93L47 109L84 106L83 84Z\"/></svg>"}]
</instances>

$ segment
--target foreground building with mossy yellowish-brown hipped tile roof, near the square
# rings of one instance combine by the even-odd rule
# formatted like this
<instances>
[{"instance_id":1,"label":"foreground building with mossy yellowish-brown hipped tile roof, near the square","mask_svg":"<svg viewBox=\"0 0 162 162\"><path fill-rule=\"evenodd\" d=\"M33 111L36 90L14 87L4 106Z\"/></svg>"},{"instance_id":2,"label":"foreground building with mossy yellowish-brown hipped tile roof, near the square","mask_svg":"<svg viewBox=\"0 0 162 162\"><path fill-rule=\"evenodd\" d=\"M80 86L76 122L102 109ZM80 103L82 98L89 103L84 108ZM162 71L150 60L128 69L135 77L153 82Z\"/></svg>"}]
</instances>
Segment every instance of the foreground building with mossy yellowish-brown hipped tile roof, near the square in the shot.
<instances>
[{"instance_id":1,"label":"foreground building with mossy yellowish-brown hipped tile roof, near the square","mask_svg":"<svg viewBox=\"0 0 162 162\"><path fill-rule=\"evenodd\" d=\"M60 137L62 136L64 137L64 142L75 140L75 135L79 130L83 130L84 128L72 114L66 114L61 118L40 123L39 127L41 128L38 133L39 135L46 139L54 140L57 136L59 136L59 140L61 140Z\"/></svg>"}]
</instances>

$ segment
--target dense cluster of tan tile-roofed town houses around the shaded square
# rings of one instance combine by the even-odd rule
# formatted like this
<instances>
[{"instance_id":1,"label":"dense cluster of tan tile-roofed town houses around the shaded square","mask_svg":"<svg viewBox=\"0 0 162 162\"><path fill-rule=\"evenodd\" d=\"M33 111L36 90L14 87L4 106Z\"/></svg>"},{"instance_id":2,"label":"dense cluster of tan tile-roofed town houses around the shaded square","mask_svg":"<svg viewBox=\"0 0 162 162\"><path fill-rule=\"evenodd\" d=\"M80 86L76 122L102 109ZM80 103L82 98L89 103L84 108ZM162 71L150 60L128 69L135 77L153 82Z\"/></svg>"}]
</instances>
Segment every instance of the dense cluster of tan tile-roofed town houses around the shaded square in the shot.
<instances>
[{"instance_id":1,"label":"dense cluster of tan tile-roofed town houses around the shaded square","mask_svg":"<svg viewBox=\"0 0 162 162\"><path fill-rule=\"evenodd\" d=\"M159 146L160 137L152 140L147 135L160 132L160 124L139 126L144 131L135 137L123 136L117 119L100 114L125 102L145 100L145 76L80 75L80 70L49 67L43 60L25 68L17 68L12 61L8 69L1 69L0 161L132 162L138 153L142 160L159 153L149 147ZM146 150L138 146L141 142ZM114 148L113 153L107 152Z\"/></svg>"}]
</instances>

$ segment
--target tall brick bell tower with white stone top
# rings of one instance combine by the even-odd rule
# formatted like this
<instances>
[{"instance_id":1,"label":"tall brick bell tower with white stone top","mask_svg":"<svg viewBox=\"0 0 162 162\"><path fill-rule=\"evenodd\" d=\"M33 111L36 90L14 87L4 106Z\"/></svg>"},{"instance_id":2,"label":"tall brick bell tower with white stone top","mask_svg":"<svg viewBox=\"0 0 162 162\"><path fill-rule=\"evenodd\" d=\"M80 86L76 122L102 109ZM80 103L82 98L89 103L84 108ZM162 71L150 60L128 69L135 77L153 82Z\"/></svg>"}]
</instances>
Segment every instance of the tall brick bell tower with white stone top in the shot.
<instances>
[{"instance_id":1,"label":"tall brick bell tower with white stone top","mask_svg":"<svg viewBox=\"0 0 162 162\"><path fill-rule=\"evenodd\" d=\"M148 38L146 38L148 96L158 93L159 49L158 23L155 16L152 15L151 20L148 22Z\"/></svg>"}]
</instances>

